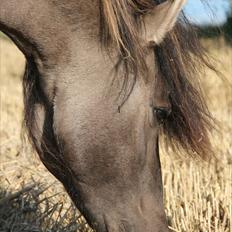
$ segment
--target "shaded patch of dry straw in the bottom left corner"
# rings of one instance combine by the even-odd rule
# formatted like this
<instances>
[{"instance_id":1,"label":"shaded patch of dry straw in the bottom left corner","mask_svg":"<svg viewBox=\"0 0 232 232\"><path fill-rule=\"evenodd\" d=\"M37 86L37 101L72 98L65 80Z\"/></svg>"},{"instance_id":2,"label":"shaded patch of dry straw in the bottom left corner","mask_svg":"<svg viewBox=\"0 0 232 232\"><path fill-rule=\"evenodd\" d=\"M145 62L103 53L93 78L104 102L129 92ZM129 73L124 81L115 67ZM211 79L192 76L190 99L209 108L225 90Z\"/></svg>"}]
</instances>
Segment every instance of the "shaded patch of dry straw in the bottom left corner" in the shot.
<instances>
[{"instance_id":1,"label":"shaded patch of dry straw in the bottom left corner","mask_svg":"<svg viewBox=\"0 0 232 232\"><path fill-rule=\"evenodd\" d=\"M33 183L14 193L1 191L0 231L87 231L75 207L66 209L61 199L45 194L47 189Z\"/></svg>"}]
</instances>

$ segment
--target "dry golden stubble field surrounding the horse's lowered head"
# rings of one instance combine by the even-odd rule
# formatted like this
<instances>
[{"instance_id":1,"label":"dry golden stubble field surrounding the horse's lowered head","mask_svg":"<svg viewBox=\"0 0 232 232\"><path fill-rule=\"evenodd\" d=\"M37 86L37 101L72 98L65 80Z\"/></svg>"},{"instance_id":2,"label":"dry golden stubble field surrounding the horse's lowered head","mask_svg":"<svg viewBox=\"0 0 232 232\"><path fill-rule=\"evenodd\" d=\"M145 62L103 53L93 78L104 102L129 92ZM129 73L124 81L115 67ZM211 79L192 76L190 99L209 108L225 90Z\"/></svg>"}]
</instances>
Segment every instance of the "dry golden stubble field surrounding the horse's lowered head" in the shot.
<instances>
[{"instance_id":1,"label":"dry golden stubble field surrounding the horse's lowered head","mask_svg":"<svg viewBox=\"0 0 232 232\"><path fill-rule=\"evenodd\" d=\"M213 45L213 46L212 46ZM232 48L207 43L229 79ZM212 48L214 47L214 48ZM20 137L22 55L0 40L0 232L83 231L83 219L60 183L46 171ZM232 89L206 71L203 87L213 115L221 122L214 134L219 160L200 163L162 152L166 212L173 231L232 231ZM49 186L49 188L47 188ZM86 228L86 227L85 227Z\"/></svg>"}]
</instances>

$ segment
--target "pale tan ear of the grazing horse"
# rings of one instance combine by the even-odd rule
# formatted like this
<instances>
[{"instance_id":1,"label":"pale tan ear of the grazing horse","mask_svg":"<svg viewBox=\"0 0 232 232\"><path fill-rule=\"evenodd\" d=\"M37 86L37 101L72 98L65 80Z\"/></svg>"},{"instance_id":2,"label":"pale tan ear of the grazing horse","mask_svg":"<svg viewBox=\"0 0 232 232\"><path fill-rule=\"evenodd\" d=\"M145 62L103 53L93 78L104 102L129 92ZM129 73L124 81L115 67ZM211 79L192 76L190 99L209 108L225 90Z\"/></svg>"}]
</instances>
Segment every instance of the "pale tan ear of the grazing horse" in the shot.
<instances>
[{"instance_id":1,"label":"pale tan ear of the grazing horse","mask_svg":"<svg viewBox=\"0 0 232 232\"><path fill-rule=\"evenodd\" d=\"M144 16L145 40L159 44L175 26L186 0L166 0Z\"/></svg>"}]
</instances>

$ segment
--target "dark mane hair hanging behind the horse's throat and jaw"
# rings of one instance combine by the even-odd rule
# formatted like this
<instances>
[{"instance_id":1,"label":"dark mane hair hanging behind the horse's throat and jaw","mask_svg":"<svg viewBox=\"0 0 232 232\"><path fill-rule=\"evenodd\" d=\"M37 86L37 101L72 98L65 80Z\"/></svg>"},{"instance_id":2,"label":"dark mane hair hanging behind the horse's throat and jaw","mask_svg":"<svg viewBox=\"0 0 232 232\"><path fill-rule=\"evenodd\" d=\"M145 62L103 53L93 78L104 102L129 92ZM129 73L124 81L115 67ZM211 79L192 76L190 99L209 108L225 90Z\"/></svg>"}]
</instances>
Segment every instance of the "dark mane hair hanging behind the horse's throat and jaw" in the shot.
<instances>
[{"instance_id":1,"label":"dark mane hair hanging behind the horse's throat and jaw","mask_svg":"<svg viewBox=\"0 0 232 232\"><path fill-rule=\"evenodd\" d=\"M40 74L33 57L27 57L23 77L24 121L28 139L46 168L60 180L77 207L84 212L83 200L73 184L73 173L63 156L61 142L53 132L53 107L40 87ZM36 121L38 108L44 114L43 128ZM80 201L74 200L78 196Z\"/></svg>"}]
</instances>

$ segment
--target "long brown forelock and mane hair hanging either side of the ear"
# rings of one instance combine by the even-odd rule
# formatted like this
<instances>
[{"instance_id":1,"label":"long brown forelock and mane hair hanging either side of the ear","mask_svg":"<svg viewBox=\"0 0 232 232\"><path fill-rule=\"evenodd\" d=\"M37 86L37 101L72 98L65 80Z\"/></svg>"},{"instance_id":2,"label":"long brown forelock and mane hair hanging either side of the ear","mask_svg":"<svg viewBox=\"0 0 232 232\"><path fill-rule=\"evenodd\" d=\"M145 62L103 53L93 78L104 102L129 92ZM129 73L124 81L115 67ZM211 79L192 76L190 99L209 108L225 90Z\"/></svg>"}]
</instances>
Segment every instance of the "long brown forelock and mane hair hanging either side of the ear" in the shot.
<instances>
[{"instance_id":1,"label":"long brown forelock and mane hair hanging either side of the ear","mask_svg":"<svg viewBox=\"0 0 232 232\"><path fill-rule=\"evenodd\" d=\"M105 47L114 43L125 71L123 88L129 97L138 76L146 76L146 49L140 38L143 15L159 0L100 0L100 39ZM153 45L159 74L169 93L172 113L163 125L175 148L206 158L212 154L209 132L212 117L199 84L202 69L213 67L193 26L184 14L160 45ZM154 64L155 65L155 64ZM133 82L128 90L129 74ZM154 77L155 78L155 77ZM131 82L131 80L130 80Z\"/></svg>"}]
</instances>

